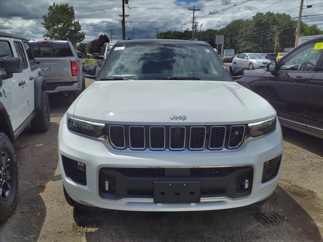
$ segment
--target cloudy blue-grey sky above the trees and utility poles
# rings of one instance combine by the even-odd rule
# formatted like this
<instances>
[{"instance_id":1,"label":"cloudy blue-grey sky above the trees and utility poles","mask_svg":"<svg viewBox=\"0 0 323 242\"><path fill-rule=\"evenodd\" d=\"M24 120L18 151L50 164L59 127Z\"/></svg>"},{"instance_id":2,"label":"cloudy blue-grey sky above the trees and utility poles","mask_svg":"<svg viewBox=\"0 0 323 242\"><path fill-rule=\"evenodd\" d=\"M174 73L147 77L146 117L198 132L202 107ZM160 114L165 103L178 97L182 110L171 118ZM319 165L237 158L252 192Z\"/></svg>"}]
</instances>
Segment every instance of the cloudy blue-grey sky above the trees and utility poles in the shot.
<instances>
[{"instance_id":1,"label":"cloudy blue-grey sky above the trees and utility poles","mask_svg":"<svg viewBox=\"0 0 323 242\"><path fill-rule=\"evenodd\" d=\"M48 6L56 3L68 3L74 7L75 19L80 22L82 31L86 33L84 41L97 38L105 33L110 37L113 29L113 39L121 39L122 0L1 0L0 29L10 33L23 35L27 38L40 40L46 32L42 27L41 16L48 13ZM235 6L236 5L236 6ZM126 37L134 39L155 38L156 30L183 31L191 28L193 12L189 7L199 8L195 12L198 25L205 29L220 29L236 19L250 19L257 12L271 11L274 13L298 16L300 0L129 0L126 5ZM323 1L304 0L302 20L307 24L318 24L323 29ZM83 41L83 42L84 42Z\"/></svg>"}]
</instances>

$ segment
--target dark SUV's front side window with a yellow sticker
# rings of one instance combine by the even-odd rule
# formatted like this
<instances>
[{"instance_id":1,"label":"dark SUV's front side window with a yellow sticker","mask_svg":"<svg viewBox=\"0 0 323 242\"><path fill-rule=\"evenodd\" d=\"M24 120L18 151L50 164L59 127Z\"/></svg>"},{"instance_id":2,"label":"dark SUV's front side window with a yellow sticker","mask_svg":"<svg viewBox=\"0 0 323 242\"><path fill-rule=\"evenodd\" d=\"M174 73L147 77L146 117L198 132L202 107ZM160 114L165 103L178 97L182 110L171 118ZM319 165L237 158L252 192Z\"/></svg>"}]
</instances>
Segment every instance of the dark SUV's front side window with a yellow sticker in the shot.
<instances>
[{"instance_id":1,"label":"dark SUV's front side window with a yellow sticker","mask_svg":"<svg viewBox=\"0 0 323 242\"><path fill-rule=\"evenodd\" d=\"M323 53L322 48L316 47L319 43L304 45L280 62L281 71L314 71L319 57Z\"/></svg>"}]
</instances>

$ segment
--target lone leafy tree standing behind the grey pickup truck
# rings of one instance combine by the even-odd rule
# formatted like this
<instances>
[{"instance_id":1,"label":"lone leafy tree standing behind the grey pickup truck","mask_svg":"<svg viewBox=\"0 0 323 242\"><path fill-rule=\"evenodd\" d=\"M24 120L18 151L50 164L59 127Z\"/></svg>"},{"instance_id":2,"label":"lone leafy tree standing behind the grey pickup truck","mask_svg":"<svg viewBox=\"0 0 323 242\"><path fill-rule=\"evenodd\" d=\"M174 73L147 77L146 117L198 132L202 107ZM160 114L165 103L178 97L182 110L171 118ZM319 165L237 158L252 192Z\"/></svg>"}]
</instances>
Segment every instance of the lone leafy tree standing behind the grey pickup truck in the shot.
<instances>
[{"instance_id":1,"label":"lone leafy tree standing behind the grey pickup truck","mask_svg":"<svg viewBox=\"0 0 323 242\"><path fill-rule=\"evenodd\" d=\"M52 40L69 40L75 46L85 38L79 21L75 21L73 6L56 4L48 7L48 14L41 23L47 30L43 36Z\"/></svg>"}]
</instances>

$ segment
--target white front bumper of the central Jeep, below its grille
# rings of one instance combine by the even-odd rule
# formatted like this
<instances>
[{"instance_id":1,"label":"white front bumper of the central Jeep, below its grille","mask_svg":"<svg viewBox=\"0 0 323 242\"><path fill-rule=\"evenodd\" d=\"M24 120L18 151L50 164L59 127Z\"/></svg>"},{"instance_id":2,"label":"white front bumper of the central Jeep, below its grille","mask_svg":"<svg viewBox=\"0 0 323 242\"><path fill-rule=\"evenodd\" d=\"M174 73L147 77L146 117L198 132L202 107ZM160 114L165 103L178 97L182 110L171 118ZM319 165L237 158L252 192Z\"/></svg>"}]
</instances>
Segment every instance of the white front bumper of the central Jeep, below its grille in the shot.
<instances>
[{"instance_id":1,"label":"white front bumper of the central Jeep, below its grille","mask_svg":"<svg viewBox=\"0 0 323 242\"><path fill-rule=\"evenodd\" d=\"M129 211L196 211L216 210L247 206L269 197L276 189L280 170L275 178L261 183L263 163L283 152L282 131L278 123L276 131L259 139L247 141L237 150L222 151L120 151L108 144L87 139L67 129L66 116L59 131L59 159L64 187L78 203L105 209ZM86 165L86 186L69 179L62 162L62 155ZM201 196L198 203L154 203L153 198L113 197L102 195L100 168L181 168L193 167L252 167L250 193L234 198L230 196Z\"/></svg>"}]
</instances>

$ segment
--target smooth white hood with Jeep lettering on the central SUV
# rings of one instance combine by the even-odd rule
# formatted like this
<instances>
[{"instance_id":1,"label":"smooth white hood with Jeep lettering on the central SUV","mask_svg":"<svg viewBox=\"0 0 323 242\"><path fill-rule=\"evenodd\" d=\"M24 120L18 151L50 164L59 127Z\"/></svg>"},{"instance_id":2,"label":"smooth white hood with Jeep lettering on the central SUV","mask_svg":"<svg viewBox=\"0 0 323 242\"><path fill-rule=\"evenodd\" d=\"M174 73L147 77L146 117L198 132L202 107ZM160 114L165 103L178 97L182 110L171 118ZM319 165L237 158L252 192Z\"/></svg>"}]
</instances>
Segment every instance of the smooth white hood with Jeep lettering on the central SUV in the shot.
<instances>
[{"instance_id":1,"label":"smooth white hood with Jeep lettering on the central SUV","mask_svg":"<svg viewBox=\"0 0 323 242\"><path fill-rule=\"evenodd\" d=\"M96 81L68 114L113 124L242 124L273 117L272 106L236 82ZM173 119L186 116L186 120Z\"/></svg>"}]
</instances>

